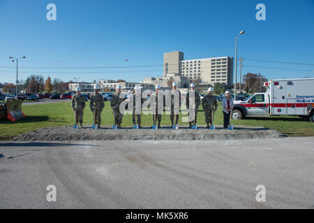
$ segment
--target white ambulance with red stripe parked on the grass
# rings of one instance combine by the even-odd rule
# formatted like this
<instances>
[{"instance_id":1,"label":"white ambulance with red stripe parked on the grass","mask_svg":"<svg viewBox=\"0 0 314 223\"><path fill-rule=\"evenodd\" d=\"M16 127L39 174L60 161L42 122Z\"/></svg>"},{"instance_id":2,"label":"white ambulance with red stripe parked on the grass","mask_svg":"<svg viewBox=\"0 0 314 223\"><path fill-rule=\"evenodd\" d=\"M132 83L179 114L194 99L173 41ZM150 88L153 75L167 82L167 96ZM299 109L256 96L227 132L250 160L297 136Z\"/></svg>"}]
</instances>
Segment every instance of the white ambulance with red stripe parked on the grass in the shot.
<instances>
[{"instance_id":1,"label":"white ambulance with red stripe parked on the grass","mask_svg":"<svg viewBox=\"0 0 314 223\"><path fill-rule=\"evenodd\" d=\"M235 100L232 118L291 115L314 121L314 78L272 79L264 86L266 93Z\"/></svg>"}]
</instances>

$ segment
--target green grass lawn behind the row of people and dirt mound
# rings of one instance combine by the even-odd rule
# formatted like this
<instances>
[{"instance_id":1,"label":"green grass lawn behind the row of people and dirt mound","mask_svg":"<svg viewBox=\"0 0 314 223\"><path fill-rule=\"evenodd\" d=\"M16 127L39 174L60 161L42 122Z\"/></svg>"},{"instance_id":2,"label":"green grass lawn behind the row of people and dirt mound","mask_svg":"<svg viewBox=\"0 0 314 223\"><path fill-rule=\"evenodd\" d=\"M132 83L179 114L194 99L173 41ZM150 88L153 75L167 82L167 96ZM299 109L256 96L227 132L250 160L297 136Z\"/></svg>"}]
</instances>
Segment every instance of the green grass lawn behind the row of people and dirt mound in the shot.
<instances>
[{"instance_id":1,"label":"green grass lawn behind the row of people and dirt mound","mask_svg":"<svg viewBox=\"0 0 314 223\"><path fill-rule=\"evenodd\" d=\"M223 112L221 103L218 104L218 111L215 114L215 124L223 125ZM38 130L40 128L59 126L59 125L73 125L74 114L70 107L70 102L60 102L43 105L26 105L22 106L26 118L22 118L15 123L8 120L0 120L0 139L9 140L13 137L29 132ZM179 125L188 125L181 121ZM187 116L187 115L186 115ZM102 113L102 125L112 125L114 118L110 102L105 102L105 109ZM92 123L93 116L89 109L89 102L84 111L84 125ZM153 122L152 115L142 115L142 126L151 126ZM301 118L294 116L274 116L264 118L246 118L244 120L232 121L234 125L251 125L251 126L264 126L274 130L278 130L291 137L299 136L314 136L314 124L310 121L301 121ZM170 116L163 114L161 125L170 125ZM197 124L204 125L204 112L200 110L197 116ZM124 115L122 126L131 126L132 115Z\"/></svg>"}]
</instances>

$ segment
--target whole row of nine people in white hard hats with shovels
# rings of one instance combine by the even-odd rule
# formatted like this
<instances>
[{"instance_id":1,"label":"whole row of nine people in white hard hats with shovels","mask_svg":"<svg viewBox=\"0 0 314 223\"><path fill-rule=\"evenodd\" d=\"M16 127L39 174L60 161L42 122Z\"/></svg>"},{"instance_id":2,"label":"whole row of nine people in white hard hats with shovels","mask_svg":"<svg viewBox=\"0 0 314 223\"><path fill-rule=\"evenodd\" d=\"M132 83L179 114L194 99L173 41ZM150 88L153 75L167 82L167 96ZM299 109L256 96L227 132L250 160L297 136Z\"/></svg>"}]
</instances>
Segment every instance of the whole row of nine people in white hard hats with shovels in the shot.
<instances>
[{"instance_id":1,"label":"whole row of nine people in white hard hats with shovels","mask_svg":"<svg viewBox=\"0 0 314 223\"><path fill-rule=\"evenodd\" d=\"M163 113L163 107L165 107L165 95L163 93L160 93L160 86L156 86L156 91L151 95L151 99L154 100L152 105L154 105L153 109L153 127L160 128L161 124L161 118ZM90 109L91 112L93 112L94 116L94 125L98 125L98 128L100 128L101 123L101 112L103 111L103 108L105 107L105 102L103 100L103 95L99 92L100 88L99 86L94 87L95 93L91 95L91 101L90 101ZM140 95L140 89L138 86L135 86L134 93L133 93L133 125L136 125L138 128L142 128L141 126L141 116L142 116L142 104L144 103L145 99L142 98L142 95ZM85 108L85 97L81 94L80 87L77 87L76 94L73 95L72 98L72 108L75 114L75 126L78 126L78 123L80 123L80 128L82 128L83 125L83 114L84 114L84 108ZM190 84L190 90L186 94L186 108L188 111L193 111L194 114L190 116L189 114L189 128L193 128L193 126L197 123L197 111L200 108L200 105L202 104L202 107L205 112L205 122L207 123L207 128L210 128L211 125L213 125L213 118L214 118L214 112L216 112L218 103L216 100L216 97L213 95L213 89L208 89L208 94L200 99L200 94L195 91L195 84ZM122 95L121 95L122 94ZM179 98L174 97L174 95L178 95ZM158 100L158 97L163 97L162 100ZM137 100L137 98L140 98L140 101ZM110 102L110 106L112 107L112 111L114 114L114 126L117 128L121 128L122 123L122 117L123 114L120 111L120 105L121 103L126 100L126 97L124 96L124 93L121 92L121 86L117 86L117 92L112 95L112 100ZM177 101L179 100L179 101ZM194 102L192 102L194 100ZM138 107L136 107L135 102L140 102L140 112L138 111ZM158 111L158 103L163 102L163 105L160 105L162 107L162 111ZM229 91L225 92L225 97L223 98L223 127L227 128L227 125L229 125L230 122L230 115L233 109L233 100L230 98ZM190 106L193 106L192 109L190 109ZM174 128L178 125L179 121L179 109L181 107L181 93L177 89L177 83L172 83L172 90L170 91L170 121L171 121L171 127ZM177 111L177 112L176 112ZM192 118L190 118L192 117Z\"/></svg>"}]
</instances>

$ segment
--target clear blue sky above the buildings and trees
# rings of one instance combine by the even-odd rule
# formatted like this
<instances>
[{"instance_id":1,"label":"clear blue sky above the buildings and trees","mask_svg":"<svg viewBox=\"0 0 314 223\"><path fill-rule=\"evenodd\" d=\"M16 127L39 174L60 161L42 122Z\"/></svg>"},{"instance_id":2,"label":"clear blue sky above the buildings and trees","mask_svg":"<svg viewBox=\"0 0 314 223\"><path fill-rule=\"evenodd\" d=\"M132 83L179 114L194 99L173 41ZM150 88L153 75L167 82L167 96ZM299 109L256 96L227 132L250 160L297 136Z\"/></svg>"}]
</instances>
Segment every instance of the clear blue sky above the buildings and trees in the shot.
<instances>
[{"instance_id":1,"label":"clear blue sky above the buildings and trees","mask_svg":"<svg viewBox=\"0 0 314 223\"><path fill-rule=\"evenodd\" d=\"M47 21L48 3L56 4L57 21ZM266 6L266 21L255 19L257 3ZM242 29L242 73L314 77L314 0L0 0L0 27L0 82L15 82L8 56L27 56L19 79L36 74L139 82L163 75L163 52L180 50L184 59L234 56ZM78 69L121 66L143 67Z\"/></svg>"}]
</instances>

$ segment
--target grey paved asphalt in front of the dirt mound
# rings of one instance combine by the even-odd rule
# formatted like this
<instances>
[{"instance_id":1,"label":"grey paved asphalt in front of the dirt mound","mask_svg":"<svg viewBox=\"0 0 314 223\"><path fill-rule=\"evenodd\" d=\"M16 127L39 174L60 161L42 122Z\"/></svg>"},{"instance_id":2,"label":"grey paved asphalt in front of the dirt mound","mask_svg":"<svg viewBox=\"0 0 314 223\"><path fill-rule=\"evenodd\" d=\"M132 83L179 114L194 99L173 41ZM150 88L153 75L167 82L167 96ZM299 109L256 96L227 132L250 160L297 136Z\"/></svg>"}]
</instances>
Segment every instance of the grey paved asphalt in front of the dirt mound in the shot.
<instances>
[{"instance_id":1,"label":"grey paved asphalt in front of the dirt mound","mask_svg":"<svg viewBox=\"0 0 314 223\"><path fill-rule=\"evenodd\" d=\"M314 208L313 144L2 141L0 208ZM47 185L56 202L46 201Z\"/></svg>"}]
</instances>

